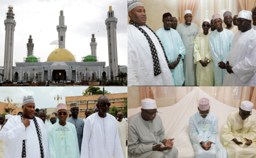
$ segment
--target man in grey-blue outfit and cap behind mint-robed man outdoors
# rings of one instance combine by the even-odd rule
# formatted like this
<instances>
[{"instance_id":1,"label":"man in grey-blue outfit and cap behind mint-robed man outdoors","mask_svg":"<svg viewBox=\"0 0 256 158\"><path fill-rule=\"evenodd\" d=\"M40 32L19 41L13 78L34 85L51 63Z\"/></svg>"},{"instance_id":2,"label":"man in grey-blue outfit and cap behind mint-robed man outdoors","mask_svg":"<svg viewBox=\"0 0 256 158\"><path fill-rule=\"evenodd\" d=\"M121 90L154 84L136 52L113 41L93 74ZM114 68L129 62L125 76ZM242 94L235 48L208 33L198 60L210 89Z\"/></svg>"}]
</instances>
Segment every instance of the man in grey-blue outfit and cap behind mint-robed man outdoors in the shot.
<instances>
[{"instance_id":1,"label":"man in grey-blue outfit and cap behind mint-robed man outdoors","mask_svg":"<svg viewBox=\"0 0 256 158\"><path fill-rule=\"evenodd\" d=\"M83 139L83 129L84 129L84 121L83 119L78 117L79 107L77 103L70 104L70 111L72 113L72 117L67 118L67 122L70 122L75 125L76 127L76 135L78 140L79 146L79 153L81 153L81 144Z\"/></svg>"}]
</instances>

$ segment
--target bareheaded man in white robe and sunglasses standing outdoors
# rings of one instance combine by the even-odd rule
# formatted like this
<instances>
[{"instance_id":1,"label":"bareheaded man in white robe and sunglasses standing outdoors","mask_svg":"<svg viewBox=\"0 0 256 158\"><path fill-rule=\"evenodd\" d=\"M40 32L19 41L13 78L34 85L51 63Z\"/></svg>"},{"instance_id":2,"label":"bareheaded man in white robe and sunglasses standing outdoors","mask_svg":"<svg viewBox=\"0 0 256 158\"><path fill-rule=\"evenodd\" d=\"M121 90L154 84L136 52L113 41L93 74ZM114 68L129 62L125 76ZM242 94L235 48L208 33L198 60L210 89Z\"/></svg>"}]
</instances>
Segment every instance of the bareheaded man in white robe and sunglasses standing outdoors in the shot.
<instances>
[{"instance_id":1,"label":"bareheaded man in white robe and sunglasses standing outdoors","mask_svg":"<svg viewBox=\"0 0 256 158\"><path fill-rule=\"evenodd\" d=\"M86 118L81 158L124 158L116 118L108 113L110 105L107 96L100 96L98 113Z\"/></svg>"}]
</instances>

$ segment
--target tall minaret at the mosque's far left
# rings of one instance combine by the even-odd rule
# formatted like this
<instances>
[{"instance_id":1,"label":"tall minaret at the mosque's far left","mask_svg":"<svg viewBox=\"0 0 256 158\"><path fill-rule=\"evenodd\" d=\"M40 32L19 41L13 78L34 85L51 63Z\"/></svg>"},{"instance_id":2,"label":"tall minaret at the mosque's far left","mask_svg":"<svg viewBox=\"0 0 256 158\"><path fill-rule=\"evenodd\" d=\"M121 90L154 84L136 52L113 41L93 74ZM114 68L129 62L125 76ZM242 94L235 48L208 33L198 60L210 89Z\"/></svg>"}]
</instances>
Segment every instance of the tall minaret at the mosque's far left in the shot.
<instances>
[{"instance_id":1,"label":"tall minaret at the mosque's far left","mask_svg":"<svg viewBox=\"0 0 256 158\"><path fill-rule=\"evenodd\" d=\"M5 79L12 80L12 56L13 56L13 39L16 22L14 20L14 13L12 11L13 6L8 6L6 20L4 20L6 38L5 38L5 50L4 50L4 76Z\"/></svg>"}]
</instances>

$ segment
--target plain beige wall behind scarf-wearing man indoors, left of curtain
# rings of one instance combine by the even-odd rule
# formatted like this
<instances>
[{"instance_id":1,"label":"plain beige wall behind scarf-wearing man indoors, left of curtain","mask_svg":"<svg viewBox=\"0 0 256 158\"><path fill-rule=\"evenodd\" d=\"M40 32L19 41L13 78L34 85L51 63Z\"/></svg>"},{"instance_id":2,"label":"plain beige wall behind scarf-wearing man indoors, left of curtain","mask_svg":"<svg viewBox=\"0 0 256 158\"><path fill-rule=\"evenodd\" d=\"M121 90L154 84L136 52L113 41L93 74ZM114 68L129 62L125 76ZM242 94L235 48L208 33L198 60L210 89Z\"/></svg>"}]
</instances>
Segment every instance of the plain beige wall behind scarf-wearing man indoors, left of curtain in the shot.
<instances>
[{"instance_id":1,"label":"plain beige wall behind scarf-wearing man indoors, left of curtain","mask_svg":"<svg viewBox=\"0 0 256 158\"><path fill-rule=\"evenodd\" d=\"M179 19L179 1L178 0L140 0L143 4L146 14L147 14L147 23L154 31L157 31L159 28L163 27L163 14L169 12L172 14L172 17ZM128 24L130 18L128 16ZM179 20L178 20L179 25Z\"/></svg>"}]
</instances>

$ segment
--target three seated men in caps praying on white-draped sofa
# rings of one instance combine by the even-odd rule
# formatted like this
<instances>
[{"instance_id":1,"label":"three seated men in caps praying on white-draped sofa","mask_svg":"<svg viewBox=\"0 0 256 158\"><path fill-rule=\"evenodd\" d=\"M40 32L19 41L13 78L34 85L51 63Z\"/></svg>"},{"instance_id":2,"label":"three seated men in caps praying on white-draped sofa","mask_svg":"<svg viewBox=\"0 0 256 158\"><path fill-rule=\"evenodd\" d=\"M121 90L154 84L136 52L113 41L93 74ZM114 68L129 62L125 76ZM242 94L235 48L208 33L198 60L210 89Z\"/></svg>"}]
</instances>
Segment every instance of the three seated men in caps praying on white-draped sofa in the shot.
<instances>
[{"instance_id":1,"label":"three seated men in caps praying on white-draped sofa","mask_svg":"<svg viewBox=\"0 0 256 158\"><path fill-rule=\"evenodd\" d=\"M128 118L128 158L177 158L174 138L167 138L157 104L141 101L141 112ZM253 103L241 102L239 111L230 113L218 140L218 117L210 112L209 100L198 101L198 112L189 119L189 135L195 158L256 158L256 117ZM179 140L177 140L179 141Z\"/></svg>"}]
</instances>

